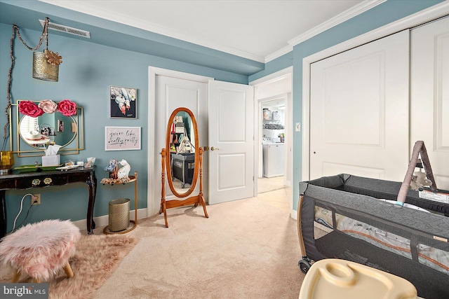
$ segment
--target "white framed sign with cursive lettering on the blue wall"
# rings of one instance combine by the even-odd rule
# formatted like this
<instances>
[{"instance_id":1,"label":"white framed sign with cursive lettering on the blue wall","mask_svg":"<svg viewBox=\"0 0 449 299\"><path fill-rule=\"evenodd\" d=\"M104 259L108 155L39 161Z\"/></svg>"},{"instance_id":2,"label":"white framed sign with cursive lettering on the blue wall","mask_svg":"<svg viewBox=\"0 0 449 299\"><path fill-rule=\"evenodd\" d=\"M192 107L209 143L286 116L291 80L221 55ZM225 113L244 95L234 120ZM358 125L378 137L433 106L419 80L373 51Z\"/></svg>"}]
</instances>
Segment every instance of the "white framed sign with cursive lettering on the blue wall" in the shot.
<instances>
[{"instance_id":1,"label":"white framed sign with cursive lettering on the blue wall","mask_svg":"<svg viewBox=\"0 0 449 299\"><path fill-rule=\"evenodd\" d=\"M140 150L141 127L105 127L105 151Z\"/></svg>"}]
</instances>

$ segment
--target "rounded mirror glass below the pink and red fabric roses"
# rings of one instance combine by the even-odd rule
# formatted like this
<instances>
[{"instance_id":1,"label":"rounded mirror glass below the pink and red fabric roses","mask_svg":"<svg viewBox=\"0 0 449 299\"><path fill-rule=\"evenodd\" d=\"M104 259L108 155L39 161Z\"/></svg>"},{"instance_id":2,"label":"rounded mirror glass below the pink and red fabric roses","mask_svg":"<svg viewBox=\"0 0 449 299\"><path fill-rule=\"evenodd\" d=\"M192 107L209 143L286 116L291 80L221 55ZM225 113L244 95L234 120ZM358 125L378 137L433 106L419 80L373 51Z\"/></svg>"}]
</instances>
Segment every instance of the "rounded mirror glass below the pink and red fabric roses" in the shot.
<instances>
[{"instance_id":1,"label":"rounded mirror glass below the pink and red fabric roses","mask_svg":"<svg viewBox=\"0 0 449 299\"><path fill-rule=\"evenodd\" d=\"M37 118L22 116L19 123L20 138L29 146L41 150L53 144L67 146L77 132L75 119L60 112L44 113Z\"/></svg>"}]
</instances>

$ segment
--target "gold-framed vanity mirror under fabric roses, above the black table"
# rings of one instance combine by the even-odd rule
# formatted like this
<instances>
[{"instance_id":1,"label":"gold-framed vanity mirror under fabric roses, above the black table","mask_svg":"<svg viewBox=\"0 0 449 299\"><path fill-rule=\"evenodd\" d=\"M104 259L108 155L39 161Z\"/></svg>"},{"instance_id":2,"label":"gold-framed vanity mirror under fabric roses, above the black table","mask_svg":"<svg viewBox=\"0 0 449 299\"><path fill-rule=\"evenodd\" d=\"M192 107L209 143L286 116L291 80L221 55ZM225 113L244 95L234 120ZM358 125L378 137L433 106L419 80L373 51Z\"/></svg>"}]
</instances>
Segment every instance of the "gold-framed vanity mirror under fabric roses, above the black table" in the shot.
<instances>
[{"instance_id":1,"label":"gold-framed vanity mirror under fabric roses, above the black table","mask_svg":"<svg viewBox=\"0 0 449 299\"><path fill-rule=\"evenodd\" d=\"M15 109L16 153L18 157L43 155L43 151L49 145L61 146L58 154L78 154L84 149L83 145L83 109L76 107L76 114L65 116L60 111L43 113L41 116L32 117L19 112L19 104L11 105L10 118ZM36 105L39 101L34 102ZM13 123L12 119L10 120ZM11 126L12 127L12 126ZM14 136L11 134L11 136ZM11 139L11 143L13 140Z\"/></svg>"}]
</instances>

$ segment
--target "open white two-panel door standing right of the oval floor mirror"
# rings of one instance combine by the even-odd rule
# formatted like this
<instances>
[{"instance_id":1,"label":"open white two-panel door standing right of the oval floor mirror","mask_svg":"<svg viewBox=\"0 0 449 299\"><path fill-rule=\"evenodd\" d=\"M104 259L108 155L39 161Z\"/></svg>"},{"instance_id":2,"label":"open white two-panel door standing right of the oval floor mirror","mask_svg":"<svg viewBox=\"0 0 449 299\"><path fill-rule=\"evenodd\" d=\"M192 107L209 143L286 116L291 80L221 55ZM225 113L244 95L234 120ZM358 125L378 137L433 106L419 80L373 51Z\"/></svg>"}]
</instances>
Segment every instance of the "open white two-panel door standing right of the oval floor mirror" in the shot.
<instances>
[{"instance_id":1,"label":"open white two-panel door standing right of the oval floor mirror","mask_svg":"<svg viewBox=\"0 0 449 299\"><path fill-rule=\"evenodd\" d=\"M253 86L209 81L209 204L253 196Z\"/></svg>"}]
</instances>

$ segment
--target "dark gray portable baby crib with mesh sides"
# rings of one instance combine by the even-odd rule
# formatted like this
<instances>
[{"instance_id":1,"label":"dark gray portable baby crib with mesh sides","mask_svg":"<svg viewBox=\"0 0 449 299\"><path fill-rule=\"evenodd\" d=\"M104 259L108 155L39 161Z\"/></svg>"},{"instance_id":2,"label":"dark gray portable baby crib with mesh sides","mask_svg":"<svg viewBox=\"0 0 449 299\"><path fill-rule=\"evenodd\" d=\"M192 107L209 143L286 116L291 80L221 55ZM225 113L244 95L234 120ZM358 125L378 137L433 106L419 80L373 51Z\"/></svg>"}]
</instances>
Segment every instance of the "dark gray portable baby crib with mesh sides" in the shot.
<instances>
[{"instance_id":1,"label":"dark gray portable baby crib with mesh sides","mask_svg":"<svg viewBox=\"0 0 449 299\"><path fill-rule=\"evenodd\" d=\"M401 183L349 174L301 182L302 272L314 261L342 258L403 277L420 297L449 298L449 192L439 190L436 201L428 196L431 191L402 188L407 183L408 176ZM403 206L396 204L398 194Z\"/></svg>"}]
</instances>

